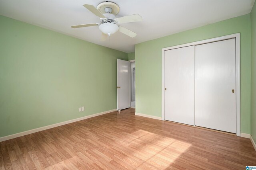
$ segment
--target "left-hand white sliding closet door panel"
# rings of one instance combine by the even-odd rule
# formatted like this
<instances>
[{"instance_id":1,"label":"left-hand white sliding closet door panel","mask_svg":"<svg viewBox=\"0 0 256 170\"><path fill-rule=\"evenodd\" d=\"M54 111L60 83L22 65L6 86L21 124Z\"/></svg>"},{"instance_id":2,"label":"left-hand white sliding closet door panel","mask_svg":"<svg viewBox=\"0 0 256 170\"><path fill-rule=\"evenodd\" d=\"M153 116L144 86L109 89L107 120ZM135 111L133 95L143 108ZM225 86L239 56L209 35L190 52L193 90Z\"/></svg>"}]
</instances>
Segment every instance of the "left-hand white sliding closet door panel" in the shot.
<instances>
[{"instance_id":1,"label":"left-hand white sliding closet door panel","mask_svg":"<svg viewBox=\"0 0 256 170\"><path fill-rule=\"evenodd\" d=\"M164 52L164 119L194 125L194 46Z\"/></svg>"}]
</instances>

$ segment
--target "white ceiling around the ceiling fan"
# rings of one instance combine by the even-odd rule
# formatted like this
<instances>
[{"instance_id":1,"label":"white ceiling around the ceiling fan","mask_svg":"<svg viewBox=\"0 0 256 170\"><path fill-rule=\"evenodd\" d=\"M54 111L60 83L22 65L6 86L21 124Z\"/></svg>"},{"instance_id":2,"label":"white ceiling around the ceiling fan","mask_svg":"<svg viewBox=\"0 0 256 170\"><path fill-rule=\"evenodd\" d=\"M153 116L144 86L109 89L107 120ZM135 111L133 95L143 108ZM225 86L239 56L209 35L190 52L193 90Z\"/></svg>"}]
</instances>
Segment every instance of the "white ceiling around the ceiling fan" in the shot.
<instances>
[{"instance_id":1,"label":"white ceiling around the ceiling fan","mask_svg":"<svg viewBox=\"0 0 256 170\"><path fill-rule=\"evenodd\" d=\"M99 18L82 6L95 7L102 0L0 0L0 15L38 25L72 37L130 53L134 45L210 23L250 13L254 0L112 0L120 7L116 16L140 14L142 22L120 24L137 33L130 38L120 32L100 41Z\"/></svg>"}]
</instances>

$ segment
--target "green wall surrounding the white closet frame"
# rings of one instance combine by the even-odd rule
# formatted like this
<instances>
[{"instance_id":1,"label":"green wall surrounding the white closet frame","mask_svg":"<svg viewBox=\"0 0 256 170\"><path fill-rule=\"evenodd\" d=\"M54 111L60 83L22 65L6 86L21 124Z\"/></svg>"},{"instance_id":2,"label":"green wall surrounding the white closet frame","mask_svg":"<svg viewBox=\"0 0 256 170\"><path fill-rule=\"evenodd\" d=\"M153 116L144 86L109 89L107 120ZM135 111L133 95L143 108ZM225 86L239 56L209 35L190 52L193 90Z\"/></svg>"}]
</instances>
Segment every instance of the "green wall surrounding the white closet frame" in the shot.
<instances>
[{"instance_id":1,"label":"green wall surrounding the white closet frame","mask_svg":"<svg viewBox=\"0 0 256 170\"><path fill-rule=\"evenodd\" d=\"M136 112L162 117L162 48L241 33L241 132L250 134L250 14L135 45Z\"/></svg>"}]
</instances>

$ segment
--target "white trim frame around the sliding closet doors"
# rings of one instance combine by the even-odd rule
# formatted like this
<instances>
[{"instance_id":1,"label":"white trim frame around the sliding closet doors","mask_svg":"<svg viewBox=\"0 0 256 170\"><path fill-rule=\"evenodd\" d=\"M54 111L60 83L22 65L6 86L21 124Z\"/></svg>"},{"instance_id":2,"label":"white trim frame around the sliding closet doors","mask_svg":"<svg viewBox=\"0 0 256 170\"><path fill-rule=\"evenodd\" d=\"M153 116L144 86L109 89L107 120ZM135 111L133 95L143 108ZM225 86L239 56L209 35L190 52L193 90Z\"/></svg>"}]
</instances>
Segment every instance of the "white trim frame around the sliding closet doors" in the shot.
<instances>
[{"instance_id":1,"label":"white trim frame around the sliding closet doors","mask_svg":"<svg viewBox=\"0 0 256 170\"><path fill-rule=\"evenodd\" d=\"M240 33L162 48L162 120L164 120L164 51L232 38L236 39L236 136L241 136Z\"/></svg>"}]
</instances>

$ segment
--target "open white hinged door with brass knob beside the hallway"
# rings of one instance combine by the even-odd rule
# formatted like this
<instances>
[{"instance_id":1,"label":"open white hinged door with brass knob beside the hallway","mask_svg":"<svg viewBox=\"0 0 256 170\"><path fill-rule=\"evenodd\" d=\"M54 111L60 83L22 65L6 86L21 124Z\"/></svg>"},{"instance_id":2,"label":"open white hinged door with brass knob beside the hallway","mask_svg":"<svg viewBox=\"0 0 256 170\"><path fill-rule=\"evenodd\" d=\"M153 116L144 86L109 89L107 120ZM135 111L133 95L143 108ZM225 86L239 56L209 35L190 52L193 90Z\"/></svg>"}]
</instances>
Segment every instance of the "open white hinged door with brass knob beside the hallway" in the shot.
<instances>
[{"instance_id":1,"label":"open white hinged door with brass knob beside the hallway","mask_svg":"<svg viewBox=\"0 0 256 170\"><path fill-rule=\"evenodd\" d=\"M130 97L130 61L117 59L117 109L129 108Z\"/></svg>"}]
</instances>

